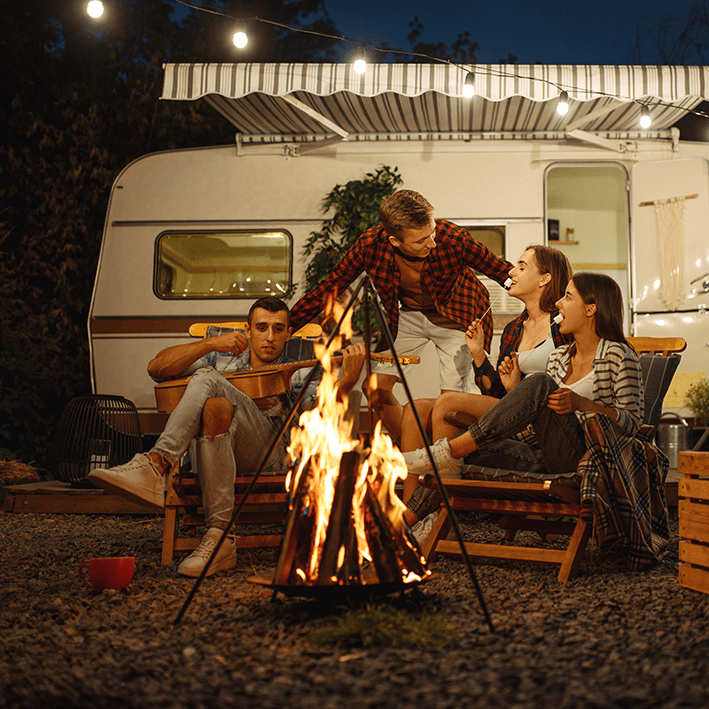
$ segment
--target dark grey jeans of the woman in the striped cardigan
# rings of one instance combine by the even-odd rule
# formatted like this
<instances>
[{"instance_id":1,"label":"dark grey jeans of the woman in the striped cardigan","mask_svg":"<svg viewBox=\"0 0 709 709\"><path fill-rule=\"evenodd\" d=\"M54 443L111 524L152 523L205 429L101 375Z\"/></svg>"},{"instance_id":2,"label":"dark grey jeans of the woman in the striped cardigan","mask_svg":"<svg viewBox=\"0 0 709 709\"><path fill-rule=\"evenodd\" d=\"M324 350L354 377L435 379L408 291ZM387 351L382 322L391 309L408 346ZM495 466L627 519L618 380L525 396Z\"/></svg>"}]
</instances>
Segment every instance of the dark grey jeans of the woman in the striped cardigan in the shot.
<instances>
[{"instance_id":1,"label":"dark grey jeans of the woman in the striped cardigan","mask_svg":"<svg viewBox=\"0 0 709 709\"><path fill-rule=\"evenodd\" d=\"M559 385L547 374L525 377L468 429L478 450L466 456L466 463L508 467L504 463L495 465L490 456L498 449L497 444L531 424L539 440L546 470L554 475L576 470L586 452L586 437L575 413L557 414L547 406L549 394L558 388ZM483 458L485 462L479 462ZM528 470L526 467L522 469Z\"/></svg>"}]
</instances>

